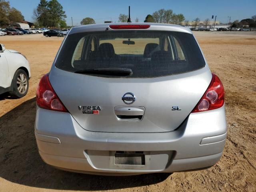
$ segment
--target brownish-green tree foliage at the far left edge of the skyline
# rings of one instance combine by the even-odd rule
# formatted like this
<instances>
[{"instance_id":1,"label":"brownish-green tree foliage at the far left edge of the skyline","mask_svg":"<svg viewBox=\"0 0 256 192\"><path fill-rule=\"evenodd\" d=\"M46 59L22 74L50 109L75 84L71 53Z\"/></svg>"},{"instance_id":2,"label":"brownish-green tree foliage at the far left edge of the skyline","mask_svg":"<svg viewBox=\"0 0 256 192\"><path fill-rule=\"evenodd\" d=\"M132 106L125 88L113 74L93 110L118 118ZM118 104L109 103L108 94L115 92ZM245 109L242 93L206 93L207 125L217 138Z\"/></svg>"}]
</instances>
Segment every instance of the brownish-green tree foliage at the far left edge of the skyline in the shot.
<instances>
[{"instance_id":1,"label":"brownish-green tree foliage at the far left edge of the skyline","mask_svg":"<svg viewBox=\"0 0 256 192\"><path fill-rule=\"evenodd\" d=\"M0 0L0 26L8 26L13 22L24 21L24 16L19 10L10 7L10 2Z\"/></svg>"}]
</instances>

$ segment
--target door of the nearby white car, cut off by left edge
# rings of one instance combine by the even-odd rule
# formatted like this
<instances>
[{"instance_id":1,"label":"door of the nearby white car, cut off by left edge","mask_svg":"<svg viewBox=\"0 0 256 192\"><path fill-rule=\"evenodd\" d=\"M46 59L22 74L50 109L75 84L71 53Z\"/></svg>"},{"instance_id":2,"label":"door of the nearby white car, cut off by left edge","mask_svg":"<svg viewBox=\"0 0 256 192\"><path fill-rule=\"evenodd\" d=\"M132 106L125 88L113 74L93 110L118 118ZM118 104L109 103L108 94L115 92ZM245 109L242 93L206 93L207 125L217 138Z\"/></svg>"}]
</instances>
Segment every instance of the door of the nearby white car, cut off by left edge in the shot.
<instances>
[{"instance_id":1,"label":"door of the nearby white car, cut off by left edge","mask_svg":"<svg viewBox=\"0 0 256 192\"><path fill-rule=\"evenodd\" d=\"M8 62L4 52L0 51L0 90L10 86Z\"/></svg>"}]
</instances>

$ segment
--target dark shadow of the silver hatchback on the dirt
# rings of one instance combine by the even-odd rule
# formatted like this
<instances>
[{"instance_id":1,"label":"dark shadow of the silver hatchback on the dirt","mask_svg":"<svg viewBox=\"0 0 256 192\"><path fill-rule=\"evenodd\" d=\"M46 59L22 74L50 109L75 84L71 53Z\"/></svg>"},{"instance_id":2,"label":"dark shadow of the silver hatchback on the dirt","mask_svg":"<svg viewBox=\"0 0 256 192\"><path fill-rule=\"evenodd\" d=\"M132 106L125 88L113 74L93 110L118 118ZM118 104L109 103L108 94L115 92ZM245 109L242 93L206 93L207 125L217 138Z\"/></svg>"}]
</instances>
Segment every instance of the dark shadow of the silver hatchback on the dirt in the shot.
<instances>
[{"instance_id":1,"label":"dark shadow of the silver hatchback on the dirt","mask_svg":"<svg viewBox=\"0 0 256 192\"><path fill-rule=\"evenodd\" d=\"M52 168L38 154L35 114L33 98L0 117L0 177L10 182L58 190L112 190L155 184L170 175L96 176Z\"/></svg>"}]
</instances>

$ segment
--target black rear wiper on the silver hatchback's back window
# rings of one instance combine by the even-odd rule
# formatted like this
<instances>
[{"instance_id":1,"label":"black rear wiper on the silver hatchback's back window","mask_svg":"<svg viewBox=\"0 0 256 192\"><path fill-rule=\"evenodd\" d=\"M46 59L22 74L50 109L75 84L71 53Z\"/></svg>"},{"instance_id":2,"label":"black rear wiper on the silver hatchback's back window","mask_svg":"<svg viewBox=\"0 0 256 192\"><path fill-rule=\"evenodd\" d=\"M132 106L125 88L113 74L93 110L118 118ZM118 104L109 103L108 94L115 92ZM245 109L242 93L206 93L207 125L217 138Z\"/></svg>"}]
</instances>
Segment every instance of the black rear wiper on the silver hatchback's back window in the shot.
<instances>
[{"instance_id":1,"label":"black rear wiper on the silver hatchback's back window","mask_svg":"<svg viewBox=\"0 0 256 192\"><path fill-rule=\"evenodd\" d=\"M131 76L132 70L129 68L94 68L78 70L74 73L80 74L100 74L100 75L112 75L112 76Z\"/></svg>"}]
</instances>

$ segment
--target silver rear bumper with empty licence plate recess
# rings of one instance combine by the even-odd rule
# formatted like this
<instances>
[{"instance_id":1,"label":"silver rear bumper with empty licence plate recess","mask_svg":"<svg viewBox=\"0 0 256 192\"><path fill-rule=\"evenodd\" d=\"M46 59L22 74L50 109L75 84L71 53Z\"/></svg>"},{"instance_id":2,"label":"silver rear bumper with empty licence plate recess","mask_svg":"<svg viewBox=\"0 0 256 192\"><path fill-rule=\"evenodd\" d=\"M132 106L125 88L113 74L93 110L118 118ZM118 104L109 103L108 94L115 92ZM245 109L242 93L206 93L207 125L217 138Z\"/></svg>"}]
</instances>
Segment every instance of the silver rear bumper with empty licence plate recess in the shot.
<instances>
[{"instance_id":1,"label":"silver rear bumper with empty licence plate recess","mask_svg":"<svg viewBox=\"0 0 256 192\"><path fill-rule=\"evenodd\" d=\"M37 108L35 135L40 156L52 166L98 174L142 174L216 164L227 127L224 106L190 114L178 129L162 133L91 132L69 113ZM115 165L111 160L115 151L143 151L149 154L148 162L144 166Z\"/></svg>"}]
</instances>

